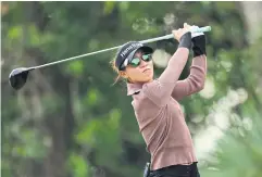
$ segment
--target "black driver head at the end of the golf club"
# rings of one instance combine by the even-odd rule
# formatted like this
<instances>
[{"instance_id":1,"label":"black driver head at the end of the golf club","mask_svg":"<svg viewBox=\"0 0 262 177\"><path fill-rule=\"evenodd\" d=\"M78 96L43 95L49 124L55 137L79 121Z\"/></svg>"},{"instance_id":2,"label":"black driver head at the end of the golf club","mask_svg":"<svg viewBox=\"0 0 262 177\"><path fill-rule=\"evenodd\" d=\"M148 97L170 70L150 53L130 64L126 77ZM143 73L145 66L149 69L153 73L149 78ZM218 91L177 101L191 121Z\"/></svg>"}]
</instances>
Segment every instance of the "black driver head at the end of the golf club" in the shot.
<instances>
[{"instance_id":1,"label":"black driver head at the end of the golf club","mask_svg":"<svg viewBox=\"0 0 262 177\"><path fill-rule=\"evenodd\" d=\"M18 67L13 69L9 75L9 83L10 85L15 89L21 89L27 79L29 71L34 68L27 68L27 67Z\"/></svg>"}]
</instances>

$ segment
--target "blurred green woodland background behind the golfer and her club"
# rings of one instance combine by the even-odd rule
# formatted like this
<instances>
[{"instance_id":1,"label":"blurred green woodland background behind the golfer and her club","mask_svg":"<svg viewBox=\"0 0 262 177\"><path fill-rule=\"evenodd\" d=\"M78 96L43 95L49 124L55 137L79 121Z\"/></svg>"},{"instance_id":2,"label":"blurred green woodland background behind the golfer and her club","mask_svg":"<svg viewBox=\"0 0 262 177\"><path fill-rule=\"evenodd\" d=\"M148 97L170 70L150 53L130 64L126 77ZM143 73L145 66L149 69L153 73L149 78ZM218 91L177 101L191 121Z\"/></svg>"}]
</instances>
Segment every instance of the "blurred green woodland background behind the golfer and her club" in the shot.
<instances>
[{"instance_id":1,"label":"blurred green woodland background behind the golfer and her club","mask_svg":"<svg viewBox=\"0 0 262 177\"><path fill-rule=\"evenodd\" d=\"M261 177L261 9L244 1L1 2L2 176L142 176L150 156L125 84L112 86L114 51L34 71L20 91L9 74L171 34L187 22L212 26L205 87L182 101L201 176ZM177 42L150 46L160 74Z\"/></svg>"}]
</instances>

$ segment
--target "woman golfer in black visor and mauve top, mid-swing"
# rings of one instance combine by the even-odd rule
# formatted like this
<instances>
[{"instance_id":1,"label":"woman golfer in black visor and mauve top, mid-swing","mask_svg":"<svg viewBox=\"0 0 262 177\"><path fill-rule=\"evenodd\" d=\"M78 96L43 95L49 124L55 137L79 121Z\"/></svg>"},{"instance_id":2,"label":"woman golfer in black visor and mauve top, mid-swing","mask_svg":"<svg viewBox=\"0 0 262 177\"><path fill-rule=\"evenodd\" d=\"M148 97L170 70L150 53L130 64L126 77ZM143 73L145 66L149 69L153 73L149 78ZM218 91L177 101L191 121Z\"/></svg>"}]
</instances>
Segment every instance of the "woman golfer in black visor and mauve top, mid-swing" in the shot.
<instances>
[{"instance_id":1,"label":"woman golfer in black visor and mauve top, mid-swing","mask_svg":"<svg viewBox=\"0 0 262 177\"><path fill-rule=\"evenodd\" d=\"M192 139L178 103L204 87L207 74L205 38L184 28L173 30L179 42L159 78L153 78L153 50L140 42L125 43L116 53L114 68L127 80L140 132L151 154L148 177L199 177ZM192 46L191 46L192 45ZM190 75L178 80L192 47Z\"/></svg>"}]
</instances>

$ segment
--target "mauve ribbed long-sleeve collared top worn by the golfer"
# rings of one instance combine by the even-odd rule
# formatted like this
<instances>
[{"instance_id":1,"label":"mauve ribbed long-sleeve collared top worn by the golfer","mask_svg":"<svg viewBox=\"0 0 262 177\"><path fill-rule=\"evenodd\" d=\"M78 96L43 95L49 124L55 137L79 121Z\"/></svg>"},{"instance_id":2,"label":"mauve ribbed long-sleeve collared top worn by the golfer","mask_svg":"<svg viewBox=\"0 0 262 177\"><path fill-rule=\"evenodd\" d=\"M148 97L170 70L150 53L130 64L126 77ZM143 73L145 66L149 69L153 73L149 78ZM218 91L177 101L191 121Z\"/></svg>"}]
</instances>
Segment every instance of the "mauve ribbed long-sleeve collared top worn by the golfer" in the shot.
<instances>
[{"instance_id":1,"label":"mauve ribbed long-sleeve collared top worn by the golfer","mask_svg":"<svg viewBox=\"0 0 262 177\"><path fill-rule=\"evenodd\" d=\"M139 130L151 154L151 170L197 162L192 139L178 101L200 91L207 75L205 55L192 59L190 74L178 80L189 50L178 48L158 79L146 84L127 84L127 94Z\"/></svg>"}]
</instances>

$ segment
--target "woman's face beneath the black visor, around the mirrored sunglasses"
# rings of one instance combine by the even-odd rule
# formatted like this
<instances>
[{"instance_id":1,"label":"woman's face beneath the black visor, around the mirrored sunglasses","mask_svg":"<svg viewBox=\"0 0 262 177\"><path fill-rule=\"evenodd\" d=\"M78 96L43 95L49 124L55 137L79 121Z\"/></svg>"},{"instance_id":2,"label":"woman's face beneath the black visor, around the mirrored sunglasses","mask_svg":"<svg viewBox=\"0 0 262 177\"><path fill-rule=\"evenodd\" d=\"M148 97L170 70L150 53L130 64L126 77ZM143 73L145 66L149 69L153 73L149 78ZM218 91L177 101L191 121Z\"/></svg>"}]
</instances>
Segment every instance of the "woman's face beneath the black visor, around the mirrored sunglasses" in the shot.
<instances>
[{"instance_id":1,"label":"woman's face beneath the black visor, around the mirrored sunglasses","mask_svg":"<svg viewBox=\"0 0 262 177\"><path fill-rule=\"evenodd\" d=\"M153 80L153 62L152 60L146 62L142 60L142 51L137 51L134 58L140 60L138 66L127 65L126 69L121 73L122 76L128 78L130 83L148 83Z\"/></svg>"}]
</instances>

